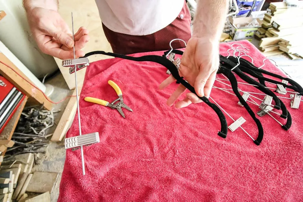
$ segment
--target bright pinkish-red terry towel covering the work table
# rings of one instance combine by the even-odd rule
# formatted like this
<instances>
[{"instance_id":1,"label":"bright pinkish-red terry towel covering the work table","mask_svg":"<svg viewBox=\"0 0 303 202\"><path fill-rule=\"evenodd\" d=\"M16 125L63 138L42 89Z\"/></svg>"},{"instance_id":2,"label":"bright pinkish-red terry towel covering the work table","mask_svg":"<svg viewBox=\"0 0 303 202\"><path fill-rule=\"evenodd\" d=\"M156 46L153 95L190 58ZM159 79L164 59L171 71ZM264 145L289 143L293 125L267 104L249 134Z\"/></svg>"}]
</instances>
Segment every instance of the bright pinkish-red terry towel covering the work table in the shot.
<instances>
[{"instance_id":1,"label":"bright pinkish-red terry towel covering the work table","mask_svg":"<svg viewBox=\"0 0 303 202\"><path fill-rule=\"evenodd\" d=\"M221 44L220 53L228 55L226 50L233 43ZM250 49L248 54L257 67L262 65L265 57L257 48L249 41L238 43ZM162 55L163 52L134 56L150 54ZM282 75L270 61L265 63L264 69ZM158 89L168 77L166 70L157 63L120 58L91 63L80 94L82 134L99 132L100 143L83 147L85 176L80 150L66 151L58 201L303 200L300 126L303 103L299 109L292 109L291 100L281 98L293 120L288 131L270 116L256 115L264 128L259 146L240 128L235 132L228 130L223 139L218 136L218 116L205 103L182 109L165 104L178 85ZM224 79L222 75L217 78ZM86 96L110 102L116 99L108 80L119 85L125 104L133 109L133 112L123 109L125 119L117 110L84 101ZM215 86L230 89L218 81ZM261 93L244 84L239 84L239 88ZM282 96L289 97L289 93ZM218 89L212 90L211 97L234 119L245 118L242 127L257 137L257 126L245 108L237 104L238 98ZM259 111L258 106L249 105L255 113ZM271 114L285 124L285 119ZM225 116L228 125L233 123L227 114ZM76 115L66 136L77 135Z\"/></svg>"}]
</instances>

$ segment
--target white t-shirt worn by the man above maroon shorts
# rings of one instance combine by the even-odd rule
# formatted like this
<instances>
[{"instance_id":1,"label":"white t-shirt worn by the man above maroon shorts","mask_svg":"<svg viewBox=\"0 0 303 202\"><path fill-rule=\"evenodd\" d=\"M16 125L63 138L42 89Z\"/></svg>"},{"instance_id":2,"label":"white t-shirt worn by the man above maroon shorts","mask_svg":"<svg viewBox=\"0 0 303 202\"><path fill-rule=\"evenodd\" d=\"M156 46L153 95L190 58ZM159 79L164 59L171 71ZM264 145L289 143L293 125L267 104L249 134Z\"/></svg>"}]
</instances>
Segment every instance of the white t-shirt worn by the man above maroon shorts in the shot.
<instances>
[{"instance_id":1,"label":"white t-shirt worn by the man above maroon shorts","mask_svg":"<svg viewBox=\"0 0 303 202\"><path fill-rule=\"evenodd\" d=\"M101 21L112 31L148 35L175 20L184 0L95 0Z\"/></svg>"}]
</instances>

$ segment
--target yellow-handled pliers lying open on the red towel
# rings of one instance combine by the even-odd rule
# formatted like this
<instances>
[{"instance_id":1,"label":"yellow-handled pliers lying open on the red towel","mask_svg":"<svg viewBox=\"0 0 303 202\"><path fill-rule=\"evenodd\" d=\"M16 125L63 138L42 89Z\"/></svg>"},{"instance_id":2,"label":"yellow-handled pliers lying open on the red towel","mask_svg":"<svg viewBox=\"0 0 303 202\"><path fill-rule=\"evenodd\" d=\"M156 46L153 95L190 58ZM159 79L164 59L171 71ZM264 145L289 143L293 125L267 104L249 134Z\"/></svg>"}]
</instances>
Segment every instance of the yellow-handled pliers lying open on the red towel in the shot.
<instances>
[{"instance_id":1,"label":"yellow-handled pliers lying open on the red towel","mask_svg":"<svg viewBox=\"0 0 303 202\"><path fill-rule=\"evenodd\" d=\"M122 111L122 107L129 111L132 111L132 109L130 107L128 107L126 104L124 104L123 97L122 97L122 91L119 88L119 86L114 81L111 81L111 80L108 81L108 84L111 85L115 89L115 91L119 97L118 99L115 99L114 101L112 101L112 103L109 103L108 101L101 100L98 98L92 98L92 97L85 97L84 100L95 103L95 104L101 104L103 106L110 107L112 109L117 109L118 112L122 115L122 117L125 118L125 115ZM119 101L119 102L117 102L117 101ZM115 102L117 102L117 103L115 104Z\"/></svg>"}]
</instances>

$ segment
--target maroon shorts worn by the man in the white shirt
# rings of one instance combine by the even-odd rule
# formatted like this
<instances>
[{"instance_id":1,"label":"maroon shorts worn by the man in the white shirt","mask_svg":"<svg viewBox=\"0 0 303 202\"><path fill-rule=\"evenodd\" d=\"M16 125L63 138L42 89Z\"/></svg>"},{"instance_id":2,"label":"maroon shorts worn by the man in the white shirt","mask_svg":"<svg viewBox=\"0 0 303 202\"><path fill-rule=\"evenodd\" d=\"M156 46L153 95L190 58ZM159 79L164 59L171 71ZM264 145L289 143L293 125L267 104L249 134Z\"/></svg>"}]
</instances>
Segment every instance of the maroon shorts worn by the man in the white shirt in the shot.
<instances>
[{"instance_id":1,"label":"maroon shorts worn by the man in the white shirt","mask_svg":"<svg viewBox=\"0 0 303 202\"><path fill-rule=\"evenodd\" d=\"M114 32L103 23L103 31L114 53L132 54L138 52L170 50L169 42L180 38L186 43L191 38L191 15L186 2L178 17L167 27L150 35L136 36ZM184 42L180 40L171 43L173 48L184 48Z\"/></svg>"}]
</instances>

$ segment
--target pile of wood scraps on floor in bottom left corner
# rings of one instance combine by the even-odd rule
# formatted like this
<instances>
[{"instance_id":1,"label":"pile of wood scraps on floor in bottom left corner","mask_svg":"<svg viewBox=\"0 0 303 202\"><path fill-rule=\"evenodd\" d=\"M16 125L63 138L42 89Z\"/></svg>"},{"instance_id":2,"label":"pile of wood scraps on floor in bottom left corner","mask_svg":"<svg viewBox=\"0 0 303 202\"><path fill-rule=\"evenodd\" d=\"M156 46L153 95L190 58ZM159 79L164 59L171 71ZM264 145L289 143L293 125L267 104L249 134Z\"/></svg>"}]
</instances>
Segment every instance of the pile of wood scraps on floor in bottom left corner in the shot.
<instances>
[{"instance_id":1,"label":"pile of wood scraps on floor in bottom left corner","mask_svg":"<svg viewBox=\"0 0 303 202\"><path fill-rule=\"evenodd\" d=\"M58 173L32 172L34 162L33 153L15 155L11 160L2 162L0 202L50 202ZM30 193L33 196L29 196Z\"/></svg>"}]
</instances>

